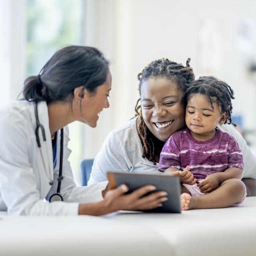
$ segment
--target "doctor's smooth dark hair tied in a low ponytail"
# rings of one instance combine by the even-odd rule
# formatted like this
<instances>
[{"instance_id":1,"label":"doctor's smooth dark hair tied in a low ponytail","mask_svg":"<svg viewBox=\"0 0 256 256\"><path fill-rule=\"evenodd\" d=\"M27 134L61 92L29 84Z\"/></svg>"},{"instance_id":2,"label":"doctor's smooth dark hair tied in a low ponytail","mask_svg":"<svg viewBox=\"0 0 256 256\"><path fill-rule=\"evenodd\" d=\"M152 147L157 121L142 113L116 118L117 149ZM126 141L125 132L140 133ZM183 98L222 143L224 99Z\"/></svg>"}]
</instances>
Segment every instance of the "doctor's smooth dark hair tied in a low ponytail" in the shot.
<instances>
[{"instance_id":1,"label":"doctor's smooth dark hair tied in a low ponytail","mask_svg":"<svg viewBox=\"0 0 256 256\"><path fill-rule=\"evenodd\" d=\"M24 82L25 100L40 102L72 102L74 89L94 92L106 81L109 62L102 52L88 46L67 46L48 60L38 76L29 76Z\"/></svg>"}]
</instances>

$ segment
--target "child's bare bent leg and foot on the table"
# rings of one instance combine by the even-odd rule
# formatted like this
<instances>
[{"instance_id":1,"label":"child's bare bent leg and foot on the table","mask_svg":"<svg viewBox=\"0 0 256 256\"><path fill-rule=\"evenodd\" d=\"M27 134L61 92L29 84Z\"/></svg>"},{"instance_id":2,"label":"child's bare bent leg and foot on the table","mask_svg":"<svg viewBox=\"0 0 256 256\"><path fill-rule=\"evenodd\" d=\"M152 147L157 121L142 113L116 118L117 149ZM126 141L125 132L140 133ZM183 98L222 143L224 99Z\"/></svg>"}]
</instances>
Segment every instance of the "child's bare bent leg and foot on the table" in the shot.
<instances>
[{"instance_id":1,"label":"child's bare bent leg and foot on the table","mask_svg":"<svg viewBox=\"0 0 256 256\"><path fill-rule=\"evenodd\" d=\"M222 182L216 190L203 196L181 194L180 203L183 210L225 208L242 201L245 195L244 183L238 179L229 179ZM188 206L186 207L185 204Z\"/></svg>"}]
</instances>

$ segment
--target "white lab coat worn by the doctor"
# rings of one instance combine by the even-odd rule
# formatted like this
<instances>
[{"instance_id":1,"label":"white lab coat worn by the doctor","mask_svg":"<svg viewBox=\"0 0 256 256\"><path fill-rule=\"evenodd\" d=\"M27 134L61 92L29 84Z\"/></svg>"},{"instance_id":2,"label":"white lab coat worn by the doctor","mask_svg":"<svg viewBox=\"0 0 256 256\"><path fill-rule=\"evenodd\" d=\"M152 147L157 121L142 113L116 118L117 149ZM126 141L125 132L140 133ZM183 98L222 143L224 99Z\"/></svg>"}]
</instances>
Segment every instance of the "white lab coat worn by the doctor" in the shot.
<instances>
[{"instance_id":1,"label":"white lab coat worn by the doctor","mask_svg":"<svg viewBox=\"0 0 256 256\"><path fill-rule=\"evenodd\" d=\"M38 103L39 122L44 126L46 145L40 134L44 170L36 143L34 103L11 102L0 110L0 211L13 215L70 215L78 214L78 204L102 200L106 182L88 187L77 187L73 180L68 156L68 127L64 127L63 170L60 194L64 202L44 202L46 196L56 193L60 162L60 132L56 168L53 170L52 140L46 102ZM48 164L50 162L50 164ZM48 172L48 176L46 175ZM49 184L49 175L54 184Z\"/></svg>"}]
</instances>

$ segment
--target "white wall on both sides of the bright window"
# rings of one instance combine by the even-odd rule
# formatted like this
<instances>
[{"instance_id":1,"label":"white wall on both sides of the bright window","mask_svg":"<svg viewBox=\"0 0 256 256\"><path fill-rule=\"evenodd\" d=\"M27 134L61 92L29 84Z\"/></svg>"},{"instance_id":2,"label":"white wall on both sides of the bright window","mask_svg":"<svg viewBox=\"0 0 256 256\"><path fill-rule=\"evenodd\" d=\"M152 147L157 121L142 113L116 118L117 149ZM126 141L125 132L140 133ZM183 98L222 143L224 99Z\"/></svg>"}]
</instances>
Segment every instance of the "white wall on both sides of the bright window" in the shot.
<instances>
[{"instance_id":1,"label":"white wall on both sides of the bright window","mask_svg":"<svg viewBox=\"0 0 256 256\"><path fill-rule=\"evenodd\" d=\"M0 0L0 105L15 100L25 78L24 3ZM108 133L134 116L137 74L162 57L183 64L190 57L197 77L213 74L226 80L236 94L234 114L243 116L246 129L254 129L256 87L247 66L256 59L255 10L253 0L87 0L85 43L100 48L111 60L113 83L110 108L102 112L97 128L85 128L84 157L93 158ZM202 36L200 24L205 20L215 26L217 39ZM252 24L250 50L238 47L240 20ZM201 47L204 38L212 42L208 55ZM202 68L205 61L208 70Z\"/></svg>"}]
</instances>

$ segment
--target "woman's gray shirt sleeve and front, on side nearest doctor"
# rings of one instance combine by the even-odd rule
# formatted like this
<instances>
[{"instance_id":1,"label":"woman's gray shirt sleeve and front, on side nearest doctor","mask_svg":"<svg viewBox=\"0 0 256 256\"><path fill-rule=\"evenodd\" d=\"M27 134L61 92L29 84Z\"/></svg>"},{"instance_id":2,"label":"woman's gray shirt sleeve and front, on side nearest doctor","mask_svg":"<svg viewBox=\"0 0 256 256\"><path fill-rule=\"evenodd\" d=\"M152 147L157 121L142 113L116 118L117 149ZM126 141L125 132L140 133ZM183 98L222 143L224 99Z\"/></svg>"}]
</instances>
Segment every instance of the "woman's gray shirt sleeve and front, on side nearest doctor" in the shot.
<instances>
[{"instance_id":1,"label":"woman's gray shirt sleeve and front, on side nearest doctor","mask_svg":"<svg viewBox=\"0 0 256 256\"><path fill-rule=\"evenodd\" d=\"M107 180L107 172L159 174L158 164L142 158L142 145L136 130L136 118L111 132L92 166L88 185Z\"/></svg>"}]
</instances>

